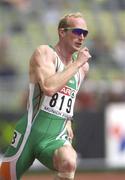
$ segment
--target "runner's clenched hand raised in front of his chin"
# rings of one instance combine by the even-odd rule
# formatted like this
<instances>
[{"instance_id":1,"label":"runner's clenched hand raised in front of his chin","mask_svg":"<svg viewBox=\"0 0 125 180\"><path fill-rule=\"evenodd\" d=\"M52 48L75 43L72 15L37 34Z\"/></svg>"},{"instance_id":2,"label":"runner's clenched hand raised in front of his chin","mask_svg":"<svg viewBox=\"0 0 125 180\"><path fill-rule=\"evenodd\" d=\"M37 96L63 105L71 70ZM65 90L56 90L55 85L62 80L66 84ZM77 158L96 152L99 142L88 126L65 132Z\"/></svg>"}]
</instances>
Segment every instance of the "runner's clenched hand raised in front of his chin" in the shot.
<instances>
[{"instance_id":1,"label":"runner's clenched hand raised in front of his chin","mask_svg":"<svg viewBox=\"0 0 125 180\"><path fill-rule=\"evenodd\" d=\"M80 49L78 51L78 56L77 56L78 66L79 67L83 66L89 60L89 58L91 58L89 49L87 47Z\"/></svg>"}]
</instances>

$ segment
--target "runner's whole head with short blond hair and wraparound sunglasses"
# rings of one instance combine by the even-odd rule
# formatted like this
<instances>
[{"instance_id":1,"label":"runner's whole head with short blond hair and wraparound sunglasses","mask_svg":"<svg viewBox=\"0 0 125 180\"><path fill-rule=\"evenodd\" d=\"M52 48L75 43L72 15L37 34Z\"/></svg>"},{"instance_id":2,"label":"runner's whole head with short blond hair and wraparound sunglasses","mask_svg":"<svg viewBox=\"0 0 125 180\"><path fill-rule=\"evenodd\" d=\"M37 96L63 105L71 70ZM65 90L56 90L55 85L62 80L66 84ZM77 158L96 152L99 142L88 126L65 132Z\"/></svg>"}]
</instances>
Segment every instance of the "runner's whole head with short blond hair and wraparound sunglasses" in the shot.
<instances>
[{"instance_id":1,"label":"runner's whole head with short blond hair and wraparound sunglasses","mask_svg":"<svg viewBox=\"0 0 125 180\"><path fill-rule=\"evenodd\" d=\"M67 14L58 24L59 39L66 46L72 47L72 51L78 51L83 40L88 34L88 28L83 15L80 12Z\"/></svg>"}]
</instances>

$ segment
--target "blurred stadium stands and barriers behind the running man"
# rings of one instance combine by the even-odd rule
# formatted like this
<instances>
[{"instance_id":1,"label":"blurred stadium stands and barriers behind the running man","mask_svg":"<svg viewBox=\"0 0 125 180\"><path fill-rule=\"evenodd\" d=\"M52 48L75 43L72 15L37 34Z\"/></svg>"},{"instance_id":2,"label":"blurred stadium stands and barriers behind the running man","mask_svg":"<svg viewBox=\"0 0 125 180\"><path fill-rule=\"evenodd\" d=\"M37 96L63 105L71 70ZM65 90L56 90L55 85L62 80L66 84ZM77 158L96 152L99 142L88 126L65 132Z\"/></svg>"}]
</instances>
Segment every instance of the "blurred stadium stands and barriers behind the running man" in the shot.
<instances>
[{"instance_id":1,"label":"blurred stadium stands and barriers behind the running man","mask_svg":"<svg viewBox=\"0 0 125 180\"><path fill-rule=\"evenodd\" d=\"M92 54L75 106L78 169L124 170L125 0L0 0L0 154L26 109L31 54L54 45L58 20L76 11L87 20Z\"/></svg>"}]
</instances>

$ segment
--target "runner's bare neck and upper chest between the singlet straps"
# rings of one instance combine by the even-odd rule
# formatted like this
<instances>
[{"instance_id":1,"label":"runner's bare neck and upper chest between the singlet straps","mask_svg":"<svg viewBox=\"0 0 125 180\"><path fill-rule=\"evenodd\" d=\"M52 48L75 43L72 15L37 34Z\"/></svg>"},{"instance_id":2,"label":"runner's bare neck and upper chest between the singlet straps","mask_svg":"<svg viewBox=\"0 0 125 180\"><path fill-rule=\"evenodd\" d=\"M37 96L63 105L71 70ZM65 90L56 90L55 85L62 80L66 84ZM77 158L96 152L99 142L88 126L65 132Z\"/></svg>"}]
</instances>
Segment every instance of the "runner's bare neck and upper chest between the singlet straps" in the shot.
<instances>
[{"instance_id":1,"label":"runner's bare neck and upper chest between the singlet straps","mask_svg":"<svg viewBox=\"0 0 125 180\"><path fill-rule=\"evenodd\" d=\"M69 64L69 62L72 61L72 54L70 52L68 52L65 47L57 44L55 46L55 50L58 54L58 56L60 57L60 59L62 60L62 62L67 65Z\"/></svg>"}]
</instances>

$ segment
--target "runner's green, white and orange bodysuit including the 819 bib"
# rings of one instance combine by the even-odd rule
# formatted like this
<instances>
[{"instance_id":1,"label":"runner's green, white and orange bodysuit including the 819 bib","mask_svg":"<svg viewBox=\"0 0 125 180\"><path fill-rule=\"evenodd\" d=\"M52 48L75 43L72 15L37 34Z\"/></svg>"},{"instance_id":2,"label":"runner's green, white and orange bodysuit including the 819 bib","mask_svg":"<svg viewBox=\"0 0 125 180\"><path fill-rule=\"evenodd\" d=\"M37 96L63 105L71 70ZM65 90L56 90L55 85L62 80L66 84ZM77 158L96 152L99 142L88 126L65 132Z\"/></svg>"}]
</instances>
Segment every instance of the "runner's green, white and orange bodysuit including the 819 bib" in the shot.
<instances>
[{"instance_id":1,"label":"runner's green, white and orange bodysuit including the 819 bib","mask_svg":"<svg viewBox=\"0 0 125 180\"><path fill-rule=\"evenodd\" d=\"M57 54L56 57L55 71L61 72L65 67ZM71 144L65 125L73 116L80 84L78 72L52 97L44 95L39 84L29 84L28 110L17 123L12 143L3 158L3 179L19 180L35 159L54 169L55 150Z\"/></svg>"}]
</instances>

